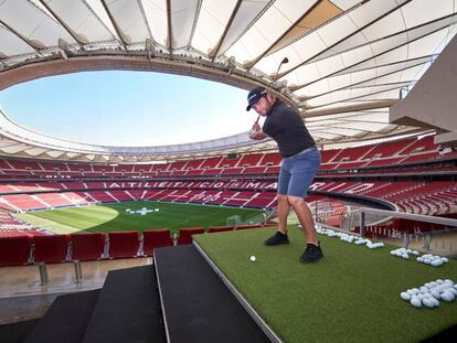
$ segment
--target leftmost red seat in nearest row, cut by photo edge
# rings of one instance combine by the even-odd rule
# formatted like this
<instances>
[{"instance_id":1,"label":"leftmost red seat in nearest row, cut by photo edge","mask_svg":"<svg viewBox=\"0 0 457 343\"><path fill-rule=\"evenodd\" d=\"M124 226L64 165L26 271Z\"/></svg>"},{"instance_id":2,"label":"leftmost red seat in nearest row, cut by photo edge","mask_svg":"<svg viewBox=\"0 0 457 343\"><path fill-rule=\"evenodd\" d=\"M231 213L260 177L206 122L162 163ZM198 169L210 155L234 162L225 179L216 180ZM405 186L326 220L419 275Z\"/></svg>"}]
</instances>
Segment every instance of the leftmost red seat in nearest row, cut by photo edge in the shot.
<instances>
[{"instance_id":1,"label":"leftmost red seat in nearest row, cut by photo edge","mask_svg":"<svg viewBox=\"0 0 457 343\"><path fill-rule=\"evenodd\" d=\"M29 236L0 238L0 266L25 265L30 256Z\"/></svg>"}]
</instances>

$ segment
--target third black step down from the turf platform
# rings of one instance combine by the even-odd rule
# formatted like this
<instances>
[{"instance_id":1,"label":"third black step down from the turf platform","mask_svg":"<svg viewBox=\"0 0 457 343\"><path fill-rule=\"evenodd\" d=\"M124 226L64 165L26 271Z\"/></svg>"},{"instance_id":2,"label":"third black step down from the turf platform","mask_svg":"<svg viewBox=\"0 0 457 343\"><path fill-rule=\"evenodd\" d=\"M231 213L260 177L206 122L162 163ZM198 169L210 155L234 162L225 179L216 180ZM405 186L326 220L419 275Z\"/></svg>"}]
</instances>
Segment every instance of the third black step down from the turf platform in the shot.
<instances>
[{"instance_id":1,"label":"third black step down from the turf platform","mask_svg":"<svg viewBox=\"0 0 457 343\"><path fill-rule=\"evenodd\" d=\"M79 343L99 290L59 296L38 322L25 343Z\"/></svg>"}]
</instances>

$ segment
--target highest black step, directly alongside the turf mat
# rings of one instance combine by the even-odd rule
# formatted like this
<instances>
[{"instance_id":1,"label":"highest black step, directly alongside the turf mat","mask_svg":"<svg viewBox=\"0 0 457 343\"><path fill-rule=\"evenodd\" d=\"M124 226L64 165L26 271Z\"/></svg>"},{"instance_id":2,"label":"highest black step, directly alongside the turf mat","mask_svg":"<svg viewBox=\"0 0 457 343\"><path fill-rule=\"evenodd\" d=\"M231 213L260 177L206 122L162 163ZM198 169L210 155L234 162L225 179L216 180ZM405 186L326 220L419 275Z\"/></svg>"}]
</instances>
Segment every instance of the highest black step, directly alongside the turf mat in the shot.
<instances>
[{"instance_id":1,"label":"highest black step, directly alongside the turf mat","mask_svg":"<svg viewBox=\"0 0 457 343\"><path fill-rule=\"evenodd\" d=\"M192 245L155 255L169 342L270 342Z\"/></svg>"}]
</instances>

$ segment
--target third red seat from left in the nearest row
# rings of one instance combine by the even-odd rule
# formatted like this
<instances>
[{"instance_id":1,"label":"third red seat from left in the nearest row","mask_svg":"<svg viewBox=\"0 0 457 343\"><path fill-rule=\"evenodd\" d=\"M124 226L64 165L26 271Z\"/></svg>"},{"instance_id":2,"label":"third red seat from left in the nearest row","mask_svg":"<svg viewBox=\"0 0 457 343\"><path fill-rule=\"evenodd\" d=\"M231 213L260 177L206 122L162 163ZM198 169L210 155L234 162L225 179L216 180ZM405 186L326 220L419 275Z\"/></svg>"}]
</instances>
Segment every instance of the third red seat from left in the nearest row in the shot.
<instances>
[{"instance_id":1,"label":"third red seat from left in the nearest row","mask_svg":"<svg viewBox=\"0 0 457 343\"><path fill-rule=\"evenodd\" d=\"M95 260L103 257L105 235L84 233L70 235L72 240L72 260Z\"/></svg>"}]
</instances>

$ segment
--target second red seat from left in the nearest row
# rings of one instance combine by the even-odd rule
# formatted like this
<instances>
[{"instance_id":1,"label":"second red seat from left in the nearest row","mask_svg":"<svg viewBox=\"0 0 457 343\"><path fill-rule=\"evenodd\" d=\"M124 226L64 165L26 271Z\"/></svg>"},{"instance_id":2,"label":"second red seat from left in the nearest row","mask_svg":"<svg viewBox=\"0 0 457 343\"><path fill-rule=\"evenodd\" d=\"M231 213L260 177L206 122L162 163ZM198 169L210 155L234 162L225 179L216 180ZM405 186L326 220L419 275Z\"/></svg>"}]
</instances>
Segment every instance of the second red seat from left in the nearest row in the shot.
<instances>
[{"instance_id":1,"label":"second red seat from left in the nearest row","mask_svg":"<svg viewBox=\"0 0 457 343\"><path fill-rule=\"evenodd\" d=\"M63 262L68 253L68 235L36 236L35 262Z\"/></svg>"}]
</instances>

